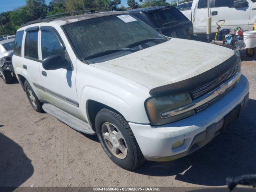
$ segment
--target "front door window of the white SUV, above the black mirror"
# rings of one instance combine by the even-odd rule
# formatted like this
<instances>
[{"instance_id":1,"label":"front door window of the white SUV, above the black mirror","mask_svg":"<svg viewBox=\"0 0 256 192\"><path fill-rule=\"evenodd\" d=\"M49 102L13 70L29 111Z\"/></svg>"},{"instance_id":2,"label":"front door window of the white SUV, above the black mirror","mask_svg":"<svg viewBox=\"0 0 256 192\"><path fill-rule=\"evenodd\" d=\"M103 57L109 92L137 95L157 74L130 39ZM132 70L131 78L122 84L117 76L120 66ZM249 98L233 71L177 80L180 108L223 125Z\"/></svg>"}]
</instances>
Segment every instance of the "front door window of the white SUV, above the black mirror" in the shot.
<instances>
[{"instance_id":1,"label":"front door window of the white SUV, above the black mirror","mask_svg":"<svg viewBox=\"0 0 256 192\"><path fill-rule=\"evenodd\" d=\"M58 38L50 31L42 31L42 57L43 59L51 55L60 55L65 58L65 50L61 46Z\"/></svg>"}]
</instances>

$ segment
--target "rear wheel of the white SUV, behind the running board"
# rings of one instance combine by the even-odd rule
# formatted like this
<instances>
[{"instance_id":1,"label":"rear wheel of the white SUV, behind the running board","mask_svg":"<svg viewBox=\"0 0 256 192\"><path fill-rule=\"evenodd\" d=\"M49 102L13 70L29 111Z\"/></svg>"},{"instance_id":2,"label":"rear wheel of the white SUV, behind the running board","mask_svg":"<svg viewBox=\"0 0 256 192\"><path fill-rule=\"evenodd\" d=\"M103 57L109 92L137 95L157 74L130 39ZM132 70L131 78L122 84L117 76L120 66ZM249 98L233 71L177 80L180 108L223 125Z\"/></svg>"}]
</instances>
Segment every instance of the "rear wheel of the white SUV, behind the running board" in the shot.
<instances>
[{"instance_id":1,"label":"rear wheel of the white SUV, behind the running board","mask_svg":"<svg viewBox=\"0 0 256 192\"><path fill-rule=\"evenodd\" d=\"M38 97L27 80L24 82L24 88L32 108L37 112L43 112L43 103L38 100Z\"/></svg>"}]
</instances>

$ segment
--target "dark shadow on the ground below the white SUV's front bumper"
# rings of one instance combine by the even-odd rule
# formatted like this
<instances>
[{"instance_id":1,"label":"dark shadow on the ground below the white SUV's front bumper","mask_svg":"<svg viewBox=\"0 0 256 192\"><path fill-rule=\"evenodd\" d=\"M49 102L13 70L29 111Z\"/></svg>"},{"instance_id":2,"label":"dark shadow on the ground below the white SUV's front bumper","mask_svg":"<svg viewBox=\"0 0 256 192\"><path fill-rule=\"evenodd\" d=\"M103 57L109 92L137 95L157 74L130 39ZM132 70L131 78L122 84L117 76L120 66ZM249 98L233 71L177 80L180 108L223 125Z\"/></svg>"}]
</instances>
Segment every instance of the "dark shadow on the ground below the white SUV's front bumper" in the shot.
<instances>
[{"instance_id":1,"label":"dark shadow on the ground below the white SUV's front bumper","mask_svg":"<svg viewBox=\"0 0 256 192\"><path fill-rule=\"evenodd\" d=\"M222 186L226 177L256 174L256 100L248 105L223 133L209 144L170 162L146 162L135 172L172 176L191 184Z\"/></svg>"}]
</instances>

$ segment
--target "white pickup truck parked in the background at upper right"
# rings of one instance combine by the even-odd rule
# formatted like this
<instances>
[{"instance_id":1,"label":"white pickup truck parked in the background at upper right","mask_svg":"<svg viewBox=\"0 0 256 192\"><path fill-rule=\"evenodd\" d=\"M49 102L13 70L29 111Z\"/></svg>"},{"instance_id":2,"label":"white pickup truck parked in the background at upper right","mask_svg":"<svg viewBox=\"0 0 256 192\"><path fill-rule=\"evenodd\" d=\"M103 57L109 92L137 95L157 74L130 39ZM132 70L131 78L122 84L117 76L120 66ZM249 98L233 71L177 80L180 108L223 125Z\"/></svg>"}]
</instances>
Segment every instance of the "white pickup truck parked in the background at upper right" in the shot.
<instances>
[{"instance_id":1,"label":"white pickup truck parked in the background at upper right","mask_svg":"<svg viewBox=\"0 0 256 192\"><path fill-rule=\"evenodd\" d=\"M191 10L181 12L193 23L194 34L206 34L207 0L194 0ZM218 20L225 20L222 28L252 30L256 18L256 0L210 0L212 32Z\"/></svg>"}]
</instances>

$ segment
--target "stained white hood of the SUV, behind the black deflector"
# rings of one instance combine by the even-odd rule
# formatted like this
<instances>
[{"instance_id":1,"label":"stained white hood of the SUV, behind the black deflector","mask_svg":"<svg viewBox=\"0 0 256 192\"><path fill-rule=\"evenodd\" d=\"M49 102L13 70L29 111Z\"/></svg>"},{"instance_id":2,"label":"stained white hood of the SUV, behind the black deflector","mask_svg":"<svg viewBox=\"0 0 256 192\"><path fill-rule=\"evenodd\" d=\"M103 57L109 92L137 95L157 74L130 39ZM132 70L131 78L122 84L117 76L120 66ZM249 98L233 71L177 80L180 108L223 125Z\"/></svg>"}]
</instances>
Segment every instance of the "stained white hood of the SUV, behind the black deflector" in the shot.
<instances>
[{"instance_id":1,"label":"stained white hood of the SUV, behind the black deflector","mask_svg":"<svg viewBox=\"0 0 256 192\"><path fill-rule=\"evenodd\" d=\"M172 38L102 63L91 64L152 89L202 74L234 55L234 50Z\"/></svg>"}]
</instances>

